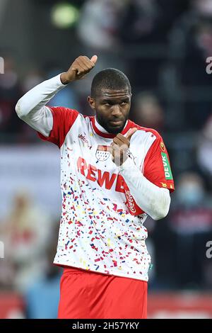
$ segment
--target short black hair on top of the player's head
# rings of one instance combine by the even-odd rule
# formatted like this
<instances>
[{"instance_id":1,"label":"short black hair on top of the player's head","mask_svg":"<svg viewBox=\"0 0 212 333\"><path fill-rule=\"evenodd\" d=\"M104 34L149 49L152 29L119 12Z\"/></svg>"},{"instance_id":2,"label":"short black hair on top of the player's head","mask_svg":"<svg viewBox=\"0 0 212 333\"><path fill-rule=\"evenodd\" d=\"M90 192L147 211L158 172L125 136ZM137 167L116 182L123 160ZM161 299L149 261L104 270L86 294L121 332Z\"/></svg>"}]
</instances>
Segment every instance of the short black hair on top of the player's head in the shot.
<instances>
[{"instance_id":1,"label":"short black hair on top of the player's head","mask_svg":"<svg viewBox=\"0 0 212 333\"><path fill-rule=\"evenodd\" d=\"M122 71L116 68L106 68L95 74L91 84L91 96L97 96L101 89L119 90L126 87L131 94L131 84Z\"/></svg>"}]
</instances>

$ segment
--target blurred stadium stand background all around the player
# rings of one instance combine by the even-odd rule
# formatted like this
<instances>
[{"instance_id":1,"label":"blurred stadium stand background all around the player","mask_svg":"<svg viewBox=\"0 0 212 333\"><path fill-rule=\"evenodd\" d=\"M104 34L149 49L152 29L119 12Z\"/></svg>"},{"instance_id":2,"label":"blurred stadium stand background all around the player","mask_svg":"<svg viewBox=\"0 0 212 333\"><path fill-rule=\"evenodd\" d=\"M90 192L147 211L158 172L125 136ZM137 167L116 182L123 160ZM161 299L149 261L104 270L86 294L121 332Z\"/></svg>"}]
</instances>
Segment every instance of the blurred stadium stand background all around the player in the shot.
<instances>
[{"instance_id":1,"label":"blurred stadium stand background all around the player","mask_svg":"<svg viewBox=\"0 0 212 333\"><path fill-rule=\"evenodd\" d=\"M212 318L211 0L0 1L0 317L57 317L61 276L52 265L59 149L41 142L14 107L78 55L95 54L93 72L49 104L91 115L95 72L128 75L130 118L163 136L176 187L167 218L146 221L148 317Z\"/></svg>"}]
</instances>

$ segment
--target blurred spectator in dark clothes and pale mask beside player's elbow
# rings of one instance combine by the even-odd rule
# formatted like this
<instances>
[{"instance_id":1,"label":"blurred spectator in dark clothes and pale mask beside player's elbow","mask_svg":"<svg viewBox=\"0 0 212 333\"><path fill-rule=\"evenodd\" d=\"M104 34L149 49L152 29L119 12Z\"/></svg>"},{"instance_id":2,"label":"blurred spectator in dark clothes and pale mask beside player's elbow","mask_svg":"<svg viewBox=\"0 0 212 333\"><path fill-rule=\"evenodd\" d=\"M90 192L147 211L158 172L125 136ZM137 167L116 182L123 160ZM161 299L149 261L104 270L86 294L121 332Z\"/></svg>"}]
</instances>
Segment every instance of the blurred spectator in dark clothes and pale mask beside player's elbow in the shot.
<instances>
[{"instance_id":1,"label":"blurred spectator in dark clothes and pale mask beside player's elbow","mask_svg":"<svg viewBox=\"0 0 212 333\"><path fill-rule=\"evenodd\" d=\"M187 172L179 177L170 227L175 232L173 278L177 288L206 288L206 242L212 239L212 205L198 174Z\"/></svg>"}]
</instances>

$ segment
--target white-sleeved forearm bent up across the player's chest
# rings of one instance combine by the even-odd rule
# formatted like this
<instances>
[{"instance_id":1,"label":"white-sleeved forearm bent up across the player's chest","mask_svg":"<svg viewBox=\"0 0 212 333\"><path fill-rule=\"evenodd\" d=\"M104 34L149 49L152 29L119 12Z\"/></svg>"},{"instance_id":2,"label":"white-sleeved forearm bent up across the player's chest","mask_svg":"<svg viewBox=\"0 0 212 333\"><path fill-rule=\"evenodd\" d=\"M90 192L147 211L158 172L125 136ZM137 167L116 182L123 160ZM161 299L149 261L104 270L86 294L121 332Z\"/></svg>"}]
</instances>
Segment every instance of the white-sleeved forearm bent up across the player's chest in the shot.
<instances>
[{"instance_id":1,"label":"white-sleeved forearm bent up across the player's chest","mask_svg":"<svg viewBox=\"0 0 212 333\"><path fill-rule=\"evenodd\" d=\"M119 173L123 176L137 205L143 211L153 220L165 218L171 200L167 188L160 188L148 181L130 158L119 167Z\"/></svg>"}]
</instances>

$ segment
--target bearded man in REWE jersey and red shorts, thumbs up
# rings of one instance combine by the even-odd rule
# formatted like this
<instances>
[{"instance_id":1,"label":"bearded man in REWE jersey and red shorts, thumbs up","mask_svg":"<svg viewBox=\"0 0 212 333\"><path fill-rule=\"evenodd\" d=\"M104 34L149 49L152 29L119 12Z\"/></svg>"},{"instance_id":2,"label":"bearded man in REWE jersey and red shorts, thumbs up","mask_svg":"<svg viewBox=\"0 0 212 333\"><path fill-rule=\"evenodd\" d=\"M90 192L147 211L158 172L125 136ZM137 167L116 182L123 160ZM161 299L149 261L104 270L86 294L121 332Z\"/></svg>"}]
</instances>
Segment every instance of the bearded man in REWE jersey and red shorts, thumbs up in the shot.
<instances>
[{"instance_id":1,"label":"bearded man in REWE jersey and red shorts, thumbs up","mask_svg":"<svg viewBox=\"0 0 212 333\"><path fill-rule=\"evenodd\" d=\"M78 57L20 98L16 112L61 151L59 318L146 318L151 259L143 222L164 218L174 191L163 140L128 119L131 86L118 69L93 79L88 103L95 116L45 106L97 60Z\"/></svg>"}]
</instances>

